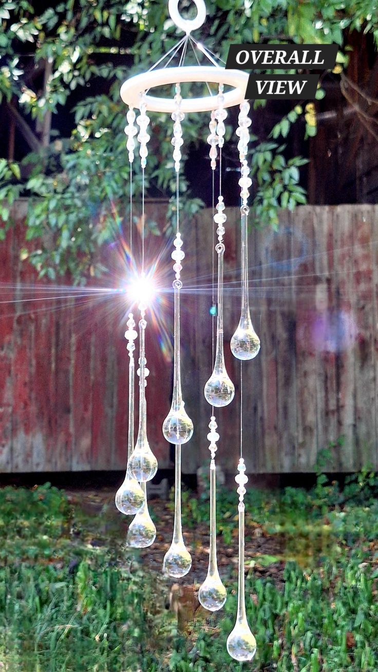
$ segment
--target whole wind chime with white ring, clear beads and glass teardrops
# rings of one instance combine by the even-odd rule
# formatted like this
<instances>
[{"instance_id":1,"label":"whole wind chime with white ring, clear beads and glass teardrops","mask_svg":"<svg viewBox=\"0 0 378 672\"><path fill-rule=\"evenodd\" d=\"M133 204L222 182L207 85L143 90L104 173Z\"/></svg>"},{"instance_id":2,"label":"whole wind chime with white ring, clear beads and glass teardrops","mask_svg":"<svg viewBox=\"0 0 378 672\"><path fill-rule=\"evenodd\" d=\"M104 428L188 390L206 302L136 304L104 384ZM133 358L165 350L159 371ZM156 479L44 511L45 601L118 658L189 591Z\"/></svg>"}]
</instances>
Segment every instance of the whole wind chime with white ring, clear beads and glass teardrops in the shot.
<instances>
[{"instance_id":1,"label":"whole wind chime with white ring, clear beads and glass teardrops","mask_svg":"<svg viewBox=\"0 0 378 672\"><path fill-rule=\"evenodd\" d=\"M215 252L218 257L218 314L216 324L216 352L214 357L214 318L213 318L213 372L207 380L204 388L206 401L211 406L211 416L209 422L209 441L210 464L210 511L209 511L209 565L207 576L199 589L199 601L205 609L210 612L216 612L222 609L226 601L226 588L224 587L217 565L216 549L216 452L220 435L217 431L216 416L214 409L227 406L234 398L235 388L226 371L224 362L224 338L223 338L223 276L224 276L224 235L226 233L226 214L224 198L222 196L222 147L224 146L224 135L226 132L225 120L227 109L231 106L240 106L238 116L238 152L240 157L240 225L241 225L241 312L238 327L231 339L231 351L235 358L240 360L240 458L238 461L238 474L235 477L238 485L237 493L238 503L238 607L234 629L228 636L227 650L232 658L237 661L249 661L256 653L256 640L246 618L246 606L244 596L244 495L246 493L245 485L248 478L245 474L246 466L243 458L243 409L242 409L242 362L252 360L260 349L260 341L253 329L250 319L250 308L248 300L248 249L247 249L247 219L248 219L248 196L249 187L252 181L249 177L250 169L248 167L247 153L249 126L251 120L248 116L250 110L249 103L244 99L248 75L242 71L226 70L216 61L214 54L211 54L203 45L191 36L191 32L200 28L206 17L206 8L203 0L194 0L197 8L195 19L183 19L179 14L178 0L169 0L169 13L177 28L183 30L183 37L167 54L164 54L152 68L136 77L128 79L121 88L122 100L128 104L129 110L126 115L128 125L125 128L128 149L128 159L130 162L130 249L132 249L132 165L134 162L134 151L136 149L136 140L139 142L139 155L142 167L142 263L140 276L138 277L138 289L140 301L138 310L140 312L139 321L139 425L138 437L134 446L134 341L138 337L135 329L134 315L130 312L128 319L128 330L125 337L128 340L129 363L129 425L128 425L128 464L125 480L115 495L115 505L122 513L128 515L134 514L134 519L130 523L127 535L127 544L134 548L146 548L150 546L156 536L156 528L150 514L148 513L148 503L146 498L146 482L151 480L156 474L157 461L148 444L146 433L146 378L148 369L146 368L145 354L145 332L147 328L148 313L148 276L144 269L144 171L148 158L148 124L150 119L147 112L167 112L171 114L173 120L173 160L175 164L176 175L176 233L173 241L174 251L172 253L173 271L175 280L173 280L174 296L174 371L173 371L173 397L171 409L162 425L164 438L170 444L175 445L175 517L173 524L172 543L164 556L163 572L169 577L175 579L184 577L191 569L191 556L185 547L183 533L181 528L181 446L186 444L193 434L193 423L187 412L181 391L181 362L180 362L180 291L183 287L181 281L181 271L183 271L183 239L180 232L180 204L179 204L179 172L181 168L181 147L183 145L182 122L186 114L201 114L210 112L209 118L209 158L213 176L213 204L215 203L215 175L218 167L219 188L218 202L216 207L213 205L214 222L216 224L216 235L218 242L215 245ZM185 55L187 46L190 45L195 53L198 65L185 66ZM167 67L169 63L179 54L179 67ZM205 56L211 65L201 65L198 54ZM157 66L166 60L164 67ZM205 97L186 97L181 96L181 84L183 83L206 83L209 95ZM212 95L209 89L209 83L218 84L218 95ZM148 95L148 91L156 86L174 85L175 93L172 98L154 97ZM230 91L224 92L224 86L229 86ZM139 110L138 116L134 108ZM138 131L139 127L139 131ZM137 137L135 137L137 136ZM214 227L215 228L215 227ZM213 230L214 237L214 230Z\"/></svg>"}]
</instances>

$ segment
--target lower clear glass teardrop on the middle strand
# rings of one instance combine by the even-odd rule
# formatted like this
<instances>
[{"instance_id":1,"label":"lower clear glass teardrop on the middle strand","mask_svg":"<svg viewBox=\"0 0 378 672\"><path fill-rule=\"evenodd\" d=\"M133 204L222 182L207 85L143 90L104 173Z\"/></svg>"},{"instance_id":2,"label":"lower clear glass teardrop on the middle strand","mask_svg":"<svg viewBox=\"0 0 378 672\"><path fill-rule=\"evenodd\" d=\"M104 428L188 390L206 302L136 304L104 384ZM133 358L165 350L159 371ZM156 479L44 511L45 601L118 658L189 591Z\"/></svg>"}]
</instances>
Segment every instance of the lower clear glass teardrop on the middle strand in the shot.
<instances>
[{"instance_id":1,"label":"lower clear glass teardrop on the middle strand","mask_svg":"<svg viewBox=\"0 0 378 672\"><path fill-rule=\"evenodd\" d=\"M191 554L187 550L181 528L181 445L176 445L175 464L175 521L173 523L173 539L171 546L164 555L162 571L174 579L181 579L191 569Z\"/></svg>"}]
</instances>

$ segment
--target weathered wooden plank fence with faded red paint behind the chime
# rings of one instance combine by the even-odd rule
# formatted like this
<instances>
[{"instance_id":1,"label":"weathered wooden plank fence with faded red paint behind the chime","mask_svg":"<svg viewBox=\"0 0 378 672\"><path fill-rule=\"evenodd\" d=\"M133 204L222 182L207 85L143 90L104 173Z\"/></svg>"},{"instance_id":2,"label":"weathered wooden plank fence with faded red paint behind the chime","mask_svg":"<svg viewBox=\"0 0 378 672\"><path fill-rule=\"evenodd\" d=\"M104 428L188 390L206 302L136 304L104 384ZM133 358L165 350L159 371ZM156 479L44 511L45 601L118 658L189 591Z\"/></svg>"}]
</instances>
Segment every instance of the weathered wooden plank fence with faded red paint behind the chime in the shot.
<instances>
[{"instance_id":1,"label":"weathered wooden plank fence with faded red paint behind the chime","mask_svg":"<svg viewBox=\"0 0 378 672\"><path fill-rule=\"evenodd\" d=\"M164 207L148 215L164 220ZM19 261L24 205L0 246L0 470L122 469L126 461L128 356L124 298L67 298ZM230 337L240 312L240 215L227 211L224 332L236 395L219 409L219 463L234 472L239 450L240 364ZM211 409L203 386L211 373L211 212L183 230L183 396L195 432L183 468L208 462ZM146 241L154 255L163 239ZM322 449L327 468L378 468L378 206L301 206L282 212L277 232L250 233L250 306L261 352L243 364L244 455L254 473L312 472ZM113 269L114 248L107 252ZM160 263L171 282L170 251ZM120 277L120 269L117 269ZM43 285L44 291L40 290ZM22 288L22 287L23 288ZM11 289L13 287L13 289ZM26 288L29 287L28 290ZM46 295L50 298L46 300ZM31 299L42 299L32 301ZM172 296L150 319L146 389L148 438L171 466L161 435L171 398ZM16 303L8 301L14 301Z\"/></svg>"}]
</instances>

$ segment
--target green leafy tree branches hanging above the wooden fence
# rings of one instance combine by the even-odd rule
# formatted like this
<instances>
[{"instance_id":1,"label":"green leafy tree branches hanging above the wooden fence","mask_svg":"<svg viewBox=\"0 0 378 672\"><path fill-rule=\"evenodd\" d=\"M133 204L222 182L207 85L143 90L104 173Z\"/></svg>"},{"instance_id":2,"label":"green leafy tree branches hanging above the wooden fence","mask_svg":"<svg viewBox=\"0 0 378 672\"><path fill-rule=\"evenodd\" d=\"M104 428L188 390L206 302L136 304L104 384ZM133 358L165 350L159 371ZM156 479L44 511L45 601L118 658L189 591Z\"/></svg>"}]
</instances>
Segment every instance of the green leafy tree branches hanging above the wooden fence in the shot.
<instances>
[{"instance_id":1,"label":"green leafy tree branches hanging above the wooden fence","mask_svg":"<svg viewBox=\"0 0 378 672\"><path fill-rule=\"evenodd\" d=\"M189 1L185 4L190 5ZM336 42L340 46L336 72L340 72L347 60L346 30L370 31L378 37L375 0L217 0L207 9L203 38L223 58L230 42ZM162 44L165 50L175 44L175 26L167 18L166 0L63 0L39 14L27 0L1 0L0 20L0 96L4 101L16 99L24 114L43 120L46 112L54 115L62 114L63 107L69 110L70 93L83 91L70 138L54 138L53 132L50 145L28 155L21 171L14 163L0 167L0 200L4 199L0 214L5 227L15 198L21 193L31 197L28 239L38 241L38 251L23 257L28 256L41 275L54 278L70 271L75 281L81 282L88 275L105 271L98 249L118 235L128 218L125 194L130 173L120 83L156 62ZM31 54L28 57L24 55L26 48ZM46 62L50 68L46 90L38 90L32 73ZM87 97L87 87L93 82L104 93ZM324 91L319 89L317 97L322 95ZM255 102L256 106L261 104L263 101ZM170 120L164 115L152 117L148 186L169 198L174 191L172 148L167 137ZM291 124L300 120L305 122L306 136L314 136L313 103L295 106L274 126L273 139L287 137ZM206 134L205 116L186 124L188 142L197 143ZM254 138L254 143L256 220L277 225L279 206L293 208L305 202L298 185L303 160L293 158L285 165L282 145L266 138ZM141 175L138 161L134 165L134 193L138 197ZM191 199L183 177L181 193L184 211L192 216L201 202Z\"/></svg>"}]
</instances>

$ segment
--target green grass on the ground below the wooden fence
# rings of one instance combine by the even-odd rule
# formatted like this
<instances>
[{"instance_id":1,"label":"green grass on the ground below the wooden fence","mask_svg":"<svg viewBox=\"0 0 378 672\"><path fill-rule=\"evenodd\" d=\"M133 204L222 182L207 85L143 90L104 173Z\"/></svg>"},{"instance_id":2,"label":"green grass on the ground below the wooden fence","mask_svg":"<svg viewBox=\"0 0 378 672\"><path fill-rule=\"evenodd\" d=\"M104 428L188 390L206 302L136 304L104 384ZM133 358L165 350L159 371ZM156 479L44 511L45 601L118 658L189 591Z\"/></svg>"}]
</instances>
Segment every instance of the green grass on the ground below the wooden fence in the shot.
<instances>
[{"instance_id":1,"label":"green grass on the ground below the wooden fence","mask_svg":"<svg viewBox=\"0 0 378 672\"><path fill-rule=\"evenodd\" d=\"M364 473L343 491L320 477L310 493L248 492L247 530L253 521L277 536L286 564L277 580L257 578L253 568L247 575L258 653L244 669L378 669L376 491L375 477ZM207 519L206 495L185 493L183 500L185 524ZM234 539L235 513L235 493L222 493L226 543ZM89 516L46 485L1 490L0 515L1 671L240 671L225 646L234 580L224 610L197 618L184 635L165 608L167 582L126 553L109 511ZM91 544L93 536L103 545ZM268 566L275 560L256 558Z\"/></svg>"}]
</instances>

